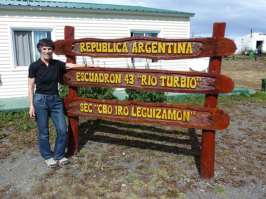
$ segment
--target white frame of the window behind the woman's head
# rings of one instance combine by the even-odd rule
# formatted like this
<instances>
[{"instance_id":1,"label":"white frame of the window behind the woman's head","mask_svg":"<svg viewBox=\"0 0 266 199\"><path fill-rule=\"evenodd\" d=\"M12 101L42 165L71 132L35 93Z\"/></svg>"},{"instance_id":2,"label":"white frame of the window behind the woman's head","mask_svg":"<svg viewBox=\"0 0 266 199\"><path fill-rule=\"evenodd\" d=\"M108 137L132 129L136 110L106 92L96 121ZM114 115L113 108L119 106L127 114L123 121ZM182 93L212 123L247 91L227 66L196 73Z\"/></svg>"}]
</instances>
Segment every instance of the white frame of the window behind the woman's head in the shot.
<instances>
[{"instance_id":1,"label":"white frame of the window behind the woman's head","mask_svg":"<svg viewBox=\"0 0 266 199\"><path fill-rule=\"evenodd\" d=\"M16 49L15 49L15 37L14 37L14 31L51 31L51 39L54 41L56 36L55 36L55 27L43 27L43 26L38 26L38 27L29 27L29 26L10 26L9 27L10 31L10 55L12 57L12 71L25 71L29 70L29 66L17 66L17 57L16 57ZM34 37L33 37L34 38ZM32 42L32 47L33 47L33 59L35 59L35 46L34 42ZM54 56L54 55L53 55Z\"/></svg>"}]
</instances>

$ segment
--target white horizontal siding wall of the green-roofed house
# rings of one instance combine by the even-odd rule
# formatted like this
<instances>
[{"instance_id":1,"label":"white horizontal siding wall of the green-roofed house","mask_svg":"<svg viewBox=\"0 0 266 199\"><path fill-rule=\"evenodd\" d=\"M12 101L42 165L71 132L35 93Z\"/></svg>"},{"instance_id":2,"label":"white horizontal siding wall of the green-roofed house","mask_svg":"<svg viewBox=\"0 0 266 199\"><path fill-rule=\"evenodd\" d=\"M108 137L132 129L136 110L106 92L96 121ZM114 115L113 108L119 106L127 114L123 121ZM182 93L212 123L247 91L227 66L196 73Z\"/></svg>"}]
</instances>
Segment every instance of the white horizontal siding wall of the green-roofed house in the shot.
<instances>
[{"instance_id":1,"label":"white horizontal siding wall of the green-roofed house","mask_svg":"<svg viewBox=\"0 0 266 199\"><path fill-rule=\"evenodd\" d=\"M28 68L14 69L10 27L51 27L53 40L64 39L66 25L75 27L75 39L130 37L130 30L159 30L159 37L189 38L189 17L0 9L0 22L0 98L28 96ZM66 60L65 56L53 58ZM126 67L129 60L94 58L95 64L104 66L105 62L106 67L117 68ZM87 61L91 63L90 58ZM82 63L82 57L77 57L77 63ZM162 60L151 65L156 69L189 71L187 59Z\"/></svg>"}]
</instances>

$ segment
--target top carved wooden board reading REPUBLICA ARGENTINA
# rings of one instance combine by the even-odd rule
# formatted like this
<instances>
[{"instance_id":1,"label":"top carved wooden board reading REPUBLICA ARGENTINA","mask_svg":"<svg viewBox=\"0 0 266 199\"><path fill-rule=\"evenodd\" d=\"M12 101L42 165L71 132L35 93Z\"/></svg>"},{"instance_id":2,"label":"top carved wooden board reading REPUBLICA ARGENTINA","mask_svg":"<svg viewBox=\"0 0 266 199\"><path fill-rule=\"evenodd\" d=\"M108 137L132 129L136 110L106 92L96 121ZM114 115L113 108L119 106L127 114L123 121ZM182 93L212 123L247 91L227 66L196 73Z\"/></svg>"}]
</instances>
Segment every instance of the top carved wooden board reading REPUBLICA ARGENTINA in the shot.
<instances>
[{"instance_id":1,"label":"top carved wooden board reading REPUBLICA ARGENTINA","mask_svg":"<svg viewBox=\"0 0 266 199\"><path fill-rule=\"evenodd\" d=\"M90 57L139 57L154 60L185 59L232 55L235 43L225 37L196 39L164 39L158 37L127 37L121 39L57 40L56 55Z\"/></svg>"}]
</instances>

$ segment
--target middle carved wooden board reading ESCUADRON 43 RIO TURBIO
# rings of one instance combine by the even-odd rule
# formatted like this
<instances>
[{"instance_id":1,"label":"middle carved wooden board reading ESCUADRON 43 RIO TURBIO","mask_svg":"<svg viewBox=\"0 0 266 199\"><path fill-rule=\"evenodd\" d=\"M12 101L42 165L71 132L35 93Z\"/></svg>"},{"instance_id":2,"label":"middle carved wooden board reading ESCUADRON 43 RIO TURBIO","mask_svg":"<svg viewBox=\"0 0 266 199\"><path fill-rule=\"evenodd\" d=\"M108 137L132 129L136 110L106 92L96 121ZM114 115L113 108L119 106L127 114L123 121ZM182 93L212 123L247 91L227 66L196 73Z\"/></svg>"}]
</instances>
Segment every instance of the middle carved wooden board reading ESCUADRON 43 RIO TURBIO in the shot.
<instances>
[{"instance_id":1,"label":"middle carved wooden board reading ESCUADRON 43 RIO TURBIO","mask_svg":"<svg viewBox=\"0 0 266 199\"><path fill-rule=\"evenodd\" d=\"M64 85L132 88L174 93L230 93L234 82L215 73L178 72L132 68L72 68L63 76Z\"/></svg>"}]
</instances>

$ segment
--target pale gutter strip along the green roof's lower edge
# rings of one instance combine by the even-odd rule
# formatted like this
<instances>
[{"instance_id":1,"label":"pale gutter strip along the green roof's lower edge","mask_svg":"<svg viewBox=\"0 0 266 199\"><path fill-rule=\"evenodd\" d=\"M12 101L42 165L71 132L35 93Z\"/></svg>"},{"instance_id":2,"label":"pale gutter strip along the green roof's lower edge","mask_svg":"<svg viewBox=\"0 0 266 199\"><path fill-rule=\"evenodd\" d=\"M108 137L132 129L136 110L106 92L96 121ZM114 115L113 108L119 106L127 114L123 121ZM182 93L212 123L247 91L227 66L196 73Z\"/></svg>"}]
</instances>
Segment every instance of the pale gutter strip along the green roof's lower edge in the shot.
<instances>
[{"instance_id":1,"label":"pale gutter strip along the green roof's lower edge","mask_svg":"<svg viewBox=\"0 0 266 199\"><path fill-rule=\"evenodd\" d=\"M153 11L131 11L131 10L113 10L113 9L87 9L87 8L62 8L50 6L20 6L20 5L0 5L0 9L18 9L18 10L43 10L43 11L70 11L70 12L90 12L90 13L110 13L110 14L140 14L140 15L156 15L169 17L194 17L194 13L167 13Z\"/></svg>"}]
</instances>

